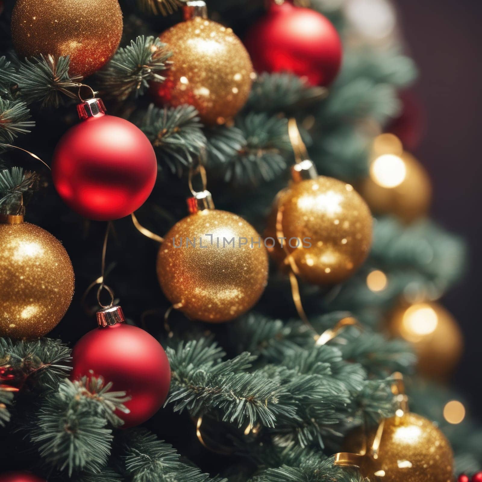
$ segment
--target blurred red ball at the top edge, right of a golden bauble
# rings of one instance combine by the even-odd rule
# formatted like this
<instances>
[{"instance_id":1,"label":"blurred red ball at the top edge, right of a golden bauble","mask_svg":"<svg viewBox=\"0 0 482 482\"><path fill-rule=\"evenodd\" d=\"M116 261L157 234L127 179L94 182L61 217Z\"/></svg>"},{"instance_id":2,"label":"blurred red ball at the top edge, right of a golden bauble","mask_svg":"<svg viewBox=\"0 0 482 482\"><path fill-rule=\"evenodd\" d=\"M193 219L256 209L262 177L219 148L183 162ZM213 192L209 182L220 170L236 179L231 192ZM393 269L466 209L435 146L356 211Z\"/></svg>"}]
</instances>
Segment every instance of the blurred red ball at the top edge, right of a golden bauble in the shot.
<instances>
[{"instance_id":1,"label":"blurred red ball at the top edge, right of a golden bauble","mask_svg":"<svg viewBox=\"0 0 482 482\"><path fill-rule=\"evenodd\" d=\"M338 32L325 16L287 0L272 1L244 44L257 72L292 72L311 85L329 85L343 54Z\"/></svg>"}]
</instances>

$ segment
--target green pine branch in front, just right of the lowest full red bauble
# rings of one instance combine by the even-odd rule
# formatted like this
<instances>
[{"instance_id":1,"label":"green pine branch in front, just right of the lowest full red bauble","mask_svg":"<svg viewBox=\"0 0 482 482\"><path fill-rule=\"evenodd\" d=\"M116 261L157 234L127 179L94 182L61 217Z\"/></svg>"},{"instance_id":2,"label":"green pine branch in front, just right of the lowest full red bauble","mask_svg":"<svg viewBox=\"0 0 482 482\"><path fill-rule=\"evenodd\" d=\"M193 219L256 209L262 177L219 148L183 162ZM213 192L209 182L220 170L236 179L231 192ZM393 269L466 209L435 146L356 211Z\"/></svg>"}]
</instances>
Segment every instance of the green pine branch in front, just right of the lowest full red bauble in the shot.
<instances>
[{"instance_id":1,"label":"green pine branch in front, just right of the lowest full red bauble","mask_svg":"<svg viewBox=\"0 0 482 482\"><path fill-rule=\"evenodd\" d=\"M295 402L283 387L247 372L255 357L242 353L222 362L224 353L208 343L201 339L167 349L172 380L166 403L174 403L174 411L187 409L196 416L218 410L224 421L238 427L247 423L274 427L279 415L295 417Z\"/></svg>"}]
</instances>

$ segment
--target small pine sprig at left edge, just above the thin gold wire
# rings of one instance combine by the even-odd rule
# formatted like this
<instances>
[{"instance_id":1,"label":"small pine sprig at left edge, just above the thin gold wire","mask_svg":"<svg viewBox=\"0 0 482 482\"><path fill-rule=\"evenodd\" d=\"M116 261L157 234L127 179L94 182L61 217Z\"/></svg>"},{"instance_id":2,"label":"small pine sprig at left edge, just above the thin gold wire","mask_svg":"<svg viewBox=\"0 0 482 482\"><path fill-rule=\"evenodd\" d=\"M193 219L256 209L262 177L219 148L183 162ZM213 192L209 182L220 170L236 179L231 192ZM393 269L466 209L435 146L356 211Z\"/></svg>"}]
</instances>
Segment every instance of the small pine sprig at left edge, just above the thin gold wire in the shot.
<instances>
[{"instance_id":1,"label":"small pine sprig at left edge, just above the thin gold wire","mask_svg":"<svg viewBox=\"0 0 482 482\"><path fill-rule=\"evenodd\" d=\"M12 144L18 134L30 132L35 123L28 119L30 112L25 102L0 97L0 152L5 144Z\"/></svg>"}]
</instances>

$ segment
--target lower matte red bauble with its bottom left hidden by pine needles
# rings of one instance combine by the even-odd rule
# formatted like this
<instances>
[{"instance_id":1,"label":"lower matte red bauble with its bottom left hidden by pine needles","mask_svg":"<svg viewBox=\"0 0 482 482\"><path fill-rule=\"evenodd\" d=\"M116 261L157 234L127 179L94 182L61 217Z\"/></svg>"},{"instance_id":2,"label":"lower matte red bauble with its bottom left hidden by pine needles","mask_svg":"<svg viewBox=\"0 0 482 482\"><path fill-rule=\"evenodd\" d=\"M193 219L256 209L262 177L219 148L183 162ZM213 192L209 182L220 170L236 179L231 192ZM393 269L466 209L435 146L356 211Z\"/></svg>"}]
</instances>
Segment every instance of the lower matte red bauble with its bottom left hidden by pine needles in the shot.
<instances>
[{"instance_id":1,"label":"lower matte red bauble with its bottom left hidden by pine needles","mask_svg":"<svg viewBox=\"0 0 482 482\"><path fill-rule=\"evenodd\" d=\"M159 342L137 326L123 322L122 309L97 313L99 328L82 336L72 352L72 379L102 376L114 391L125 391L130 413L116 412L122 428L139 425L154 415L169 392L171 369Z\"/></svg>"}]
</instances>

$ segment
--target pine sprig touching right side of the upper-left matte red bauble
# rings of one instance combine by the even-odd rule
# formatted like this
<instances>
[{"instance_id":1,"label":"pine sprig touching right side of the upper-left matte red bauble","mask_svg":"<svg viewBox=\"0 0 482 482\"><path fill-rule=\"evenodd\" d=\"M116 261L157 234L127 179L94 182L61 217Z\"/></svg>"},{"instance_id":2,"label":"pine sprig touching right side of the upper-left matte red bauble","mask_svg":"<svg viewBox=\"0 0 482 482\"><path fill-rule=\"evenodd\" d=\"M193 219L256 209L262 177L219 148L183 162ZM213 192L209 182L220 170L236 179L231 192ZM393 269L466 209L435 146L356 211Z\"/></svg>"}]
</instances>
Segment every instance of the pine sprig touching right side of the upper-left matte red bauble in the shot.
<instances>
[{"instance_id":1,"label":"pine sprig touching right side of the upper-left matte red bauble","mask_svg":"<svg viewBox=\"0 0 482 482\"><path fill-rule=\"evenodd\" d=\"M138 127L151 141L158 159L179 175L206 146L198 111L192 106L160 109L150 104Z\"/></svg>"}]
</instances>

